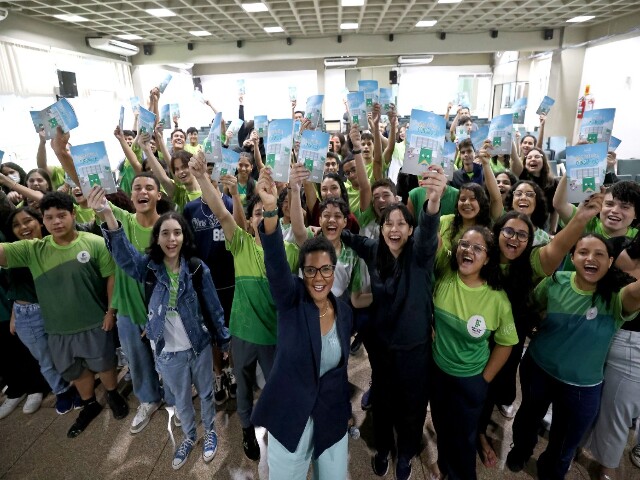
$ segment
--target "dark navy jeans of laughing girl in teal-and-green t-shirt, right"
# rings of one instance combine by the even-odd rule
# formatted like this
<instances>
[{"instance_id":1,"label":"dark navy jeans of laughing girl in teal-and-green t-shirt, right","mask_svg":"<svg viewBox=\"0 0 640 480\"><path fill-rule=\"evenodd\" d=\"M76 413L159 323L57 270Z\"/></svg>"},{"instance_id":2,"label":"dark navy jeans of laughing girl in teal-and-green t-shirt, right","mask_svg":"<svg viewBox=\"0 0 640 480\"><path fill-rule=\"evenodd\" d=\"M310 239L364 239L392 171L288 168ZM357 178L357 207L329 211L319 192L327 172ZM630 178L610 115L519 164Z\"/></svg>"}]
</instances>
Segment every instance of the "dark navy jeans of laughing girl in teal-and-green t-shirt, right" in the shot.
<instances>
[{"instance_id":1,"label":"dark navy jeans of laughing girl in teal-and-green t-shirt, right","mask_svg":"<svg viewBox=\"0 0 640 480\"><path fill-rule=\"evenodd\" d=\"M538 427L553 403L547 449L538 458L540 480L563 479L585 433L598 415L602 383L579 387L542 370L527 352L520 363L522 405L513 421L513 449L527 459L538 443Z\"/></svg>"}]
</instances>

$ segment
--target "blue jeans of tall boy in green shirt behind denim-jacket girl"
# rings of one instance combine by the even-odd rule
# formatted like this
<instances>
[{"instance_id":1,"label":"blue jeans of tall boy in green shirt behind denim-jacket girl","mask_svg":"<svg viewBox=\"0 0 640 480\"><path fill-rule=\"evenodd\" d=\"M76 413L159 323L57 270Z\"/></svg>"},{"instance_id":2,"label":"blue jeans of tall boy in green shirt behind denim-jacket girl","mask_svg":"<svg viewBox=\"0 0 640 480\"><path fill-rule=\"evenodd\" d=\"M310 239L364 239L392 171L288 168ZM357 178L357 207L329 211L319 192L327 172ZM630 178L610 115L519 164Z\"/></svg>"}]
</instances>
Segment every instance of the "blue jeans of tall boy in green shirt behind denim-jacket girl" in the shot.
<instances>
[{"instance_id":1,"label":"blue jeans of tall boy in green shirt behind denim-jacket girl","mask_svg":"<svg viewBox=\"0 0 640 480\"><path fill-rule=\"evenodd\" d=\"M135 325L128 316L117 315L117 318L118 337L129 362L133 393L140 403L159 402L162 399L160 380L151 345L141 337L143 328Z\"/></svg>"}]
</instances>

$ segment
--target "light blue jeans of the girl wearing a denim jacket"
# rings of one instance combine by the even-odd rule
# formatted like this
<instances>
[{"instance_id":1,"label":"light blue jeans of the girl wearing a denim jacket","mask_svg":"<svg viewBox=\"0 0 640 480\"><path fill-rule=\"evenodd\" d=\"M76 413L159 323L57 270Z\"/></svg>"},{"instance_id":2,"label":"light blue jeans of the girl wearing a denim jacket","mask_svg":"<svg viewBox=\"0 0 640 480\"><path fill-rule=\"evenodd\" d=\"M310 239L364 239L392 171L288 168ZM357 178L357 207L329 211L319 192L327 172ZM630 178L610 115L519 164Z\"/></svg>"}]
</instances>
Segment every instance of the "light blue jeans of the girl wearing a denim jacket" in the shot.
<instances>
[{"instance_id":1,"label":"light blue jeans of the girl wearing a denim jacket","mask_svg":"<svg viewBox=\"0 0 640 480\"><path fill-rule=\"evenodd\" d=\"M192 349L182 352L163 351L156 356L160 375L175 396L182 431L187 438L196 440L196 412L191 398L191 385L200 397L200 414L205 432L213 430L216 407L213 402L213 350L207 345L196 355Z\"/></svg>"}]
</instances>

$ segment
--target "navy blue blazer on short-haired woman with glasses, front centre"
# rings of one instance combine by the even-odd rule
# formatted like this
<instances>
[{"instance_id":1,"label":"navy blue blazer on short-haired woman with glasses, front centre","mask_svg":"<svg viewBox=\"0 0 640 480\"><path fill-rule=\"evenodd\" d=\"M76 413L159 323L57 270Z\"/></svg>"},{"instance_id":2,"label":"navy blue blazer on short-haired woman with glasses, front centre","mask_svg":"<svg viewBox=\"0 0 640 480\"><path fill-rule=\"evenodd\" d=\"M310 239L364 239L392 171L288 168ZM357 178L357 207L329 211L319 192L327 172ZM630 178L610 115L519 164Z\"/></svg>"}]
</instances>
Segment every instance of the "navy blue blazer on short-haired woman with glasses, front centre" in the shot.
<instances>
[{"instance_id":1,"label":"navy blue blazer on short-haired woman with glasses, front centre","mask_svg":"<svg viewBox=\"0 0 640 480\"><path fill-rule=\"evenodd\" d=\"M271 235L259 228L271 295L278 311L276 356L251 421L265 427L284 447L294 452L309 417L315 424L313 457L347 433L351 418L347 361L351 338L351 309L332 293L342 348L340 364L320 377L320 311L304 281L291 274L280 226Z\"/></svg>"}]
</instances>

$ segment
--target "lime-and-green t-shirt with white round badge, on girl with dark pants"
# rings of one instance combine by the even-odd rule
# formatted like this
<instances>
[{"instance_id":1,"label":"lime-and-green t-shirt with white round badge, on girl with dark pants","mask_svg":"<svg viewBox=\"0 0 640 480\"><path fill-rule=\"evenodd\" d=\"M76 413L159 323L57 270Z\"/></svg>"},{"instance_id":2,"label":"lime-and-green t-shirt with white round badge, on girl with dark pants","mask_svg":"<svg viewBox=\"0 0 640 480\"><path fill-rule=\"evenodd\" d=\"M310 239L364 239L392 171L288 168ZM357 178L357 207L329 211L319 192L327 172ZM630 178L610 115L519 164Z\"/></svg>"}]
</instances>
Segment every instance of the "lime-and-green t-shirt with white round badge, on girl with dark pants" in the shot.
<instances>
[{"instance_id":1,"label":"lime-and-green t-shirt with white round badge, on girl with dark pants","mask_svg":"<svg viewBox=\"0 0 640 480\"><path fill-rule=\"evenodd\" d=\"M450 269L439 273L433 296L433 359L449 375L478 375L489 361L492 332L498 345L518 343L511 304L503 290L493 290L486 284L468 287Z\"/></svg>"}]
</instances>

